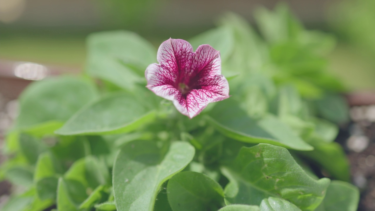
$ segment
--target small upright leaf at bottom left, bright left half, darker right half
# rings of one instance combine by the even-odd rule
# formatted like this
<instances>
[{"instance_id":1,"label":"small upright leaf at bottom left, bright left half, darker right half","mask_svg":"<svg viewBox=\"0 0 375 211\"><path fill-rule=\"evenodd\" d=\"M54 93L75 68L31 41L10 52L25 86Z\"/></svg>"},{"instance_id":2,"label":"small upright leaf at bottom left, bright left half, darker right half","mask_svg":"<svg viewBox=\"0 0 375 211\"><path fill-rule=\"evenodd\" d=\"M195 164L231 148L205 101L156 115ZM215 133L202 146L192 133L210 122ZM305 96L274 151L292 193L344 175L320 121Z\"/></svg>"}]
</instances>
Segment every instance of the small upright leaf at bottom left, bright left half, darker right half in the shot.
<instances>
[{"instance_id":1,"label":"small upright leaf at bottom left, bright left half, darker right half","mask_svg":"<svg viewBox=\"0 0 375 211\"><path fill-rule=\"evenodd\" d=\"M78 206L87 198L83 185L75 180L58 180L57 209L58 211L79 211Z\"/></svg>"}]
</instances>

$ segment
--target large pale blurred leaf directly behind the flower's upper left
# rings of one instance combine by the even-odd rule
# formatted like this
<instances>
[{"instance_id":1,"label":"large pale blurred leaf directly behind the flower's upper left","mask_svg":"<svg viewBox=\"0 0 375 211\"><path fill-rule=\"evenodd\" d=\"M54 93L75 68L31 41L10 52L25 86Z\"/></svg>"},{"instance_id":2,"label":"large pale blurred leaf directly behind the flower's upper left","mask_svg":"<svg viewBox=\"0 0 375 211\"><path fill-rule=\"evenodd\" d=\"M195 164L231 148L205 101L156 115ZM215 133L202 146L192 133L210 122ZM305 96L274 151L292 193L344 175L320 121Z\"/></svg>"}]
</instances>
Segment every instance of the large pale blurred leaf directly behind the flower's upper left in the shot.
<instances>
[{"instance_id":1,"label":"large pale blurred leaf directly behind the flower's upper left","mask_svg":"<svg viewBox=\"0 0 375 211\"><path fill-rule=\"evenodd\" d=\"M124 89L144 81L144 70L156 62L153 45L133 32L94 33L87 46L87 72Z\"/></svg>"}]
</instances>

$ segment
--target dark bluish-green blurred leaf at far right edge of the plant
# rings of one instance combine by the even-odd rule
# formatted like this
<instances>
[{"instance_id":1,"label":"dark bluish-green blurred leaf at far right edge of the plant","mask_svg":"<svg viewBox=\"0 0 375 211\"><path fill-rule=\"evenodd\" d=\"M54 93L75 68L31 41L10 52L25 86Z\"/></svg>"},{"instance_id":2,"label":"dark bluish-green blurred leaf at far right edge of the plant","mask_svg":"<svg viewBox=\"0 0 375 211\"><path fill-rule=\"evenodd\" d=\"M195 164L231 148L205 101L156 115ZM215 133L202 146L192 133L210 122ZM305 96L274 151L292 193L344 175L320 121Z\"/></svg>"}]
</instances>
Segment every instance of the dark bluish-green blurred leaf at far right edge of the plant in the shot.
<instances>
[{"instance_id":1,"label":"dark bluish-green blurred leaf at far right edge of the plant","mask_svg":"<svg viewBox=\"0 0 375 211\"><path fill-rule=\"evenodd\" d=\"M338 94L326 94L317 101L318 112L329 121L345 123L349 121L349 108L345 99Z\"/></svg>"}]
</instances>

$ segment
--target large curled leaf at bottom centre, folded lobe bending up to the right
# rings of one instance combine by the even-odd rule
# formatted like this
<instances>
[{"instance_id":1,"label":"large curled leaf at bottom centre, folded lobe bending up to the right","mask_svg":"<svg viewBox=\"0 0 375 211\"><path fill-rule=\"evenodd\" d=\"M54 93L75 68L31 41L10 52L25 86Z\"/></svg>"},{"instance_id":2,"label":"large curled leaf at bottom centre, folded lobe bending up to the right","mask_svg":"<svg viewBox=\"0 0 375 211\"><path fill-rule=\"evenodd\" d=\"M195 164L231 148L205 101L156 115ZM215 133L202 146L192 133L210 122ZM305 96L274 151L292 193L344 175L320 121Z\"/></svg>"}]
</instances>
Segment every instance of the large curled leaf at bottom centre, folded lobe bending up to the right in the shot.
<instances>
[{"instance_id":1,"label":"large curled leaf at bottom centre, folded lobe bending up to the right","mask_svg":"<svg viewBox=\"0 0 375 211\"><path fill-rule=\"evenodd\" d=\"M139 140L125 145L113 167L117 210L152 211L160 186L190 163L194 151L186 142L173 142L165 156L155 142Z\"/></svg>"}]
</instances>

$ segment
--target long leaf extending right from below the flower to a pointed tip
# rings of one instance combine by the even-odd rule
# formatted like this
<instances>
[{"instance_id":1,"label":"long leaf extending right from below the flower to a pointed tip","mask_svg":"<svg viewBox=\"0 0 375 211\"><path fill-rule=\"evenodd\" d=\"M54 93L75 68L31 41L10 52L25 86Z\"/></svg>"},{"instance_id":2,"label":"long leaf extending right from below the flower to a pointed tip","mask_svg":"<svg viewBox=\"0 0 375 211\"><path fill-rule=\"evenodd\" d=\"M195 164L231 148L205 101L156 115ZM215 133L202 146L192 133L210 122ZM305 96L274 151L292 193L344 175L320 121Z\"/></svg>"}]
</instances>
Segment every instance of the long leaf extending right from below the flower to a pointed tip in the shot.
<instances>
[{"instance_id":1,"label":"long leaf extending right from below the flower to a pointed tip","mask_svg":"<svg viewBox=\"0 0 375 211\"><path fill-rule=\"evenodd\" d=\"M231 99L217 103L209 119L220 133L242 142L269 143L302 151L314 149L275 116L252 119Z\"/></svg>"}]
</instances>

